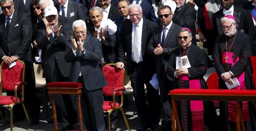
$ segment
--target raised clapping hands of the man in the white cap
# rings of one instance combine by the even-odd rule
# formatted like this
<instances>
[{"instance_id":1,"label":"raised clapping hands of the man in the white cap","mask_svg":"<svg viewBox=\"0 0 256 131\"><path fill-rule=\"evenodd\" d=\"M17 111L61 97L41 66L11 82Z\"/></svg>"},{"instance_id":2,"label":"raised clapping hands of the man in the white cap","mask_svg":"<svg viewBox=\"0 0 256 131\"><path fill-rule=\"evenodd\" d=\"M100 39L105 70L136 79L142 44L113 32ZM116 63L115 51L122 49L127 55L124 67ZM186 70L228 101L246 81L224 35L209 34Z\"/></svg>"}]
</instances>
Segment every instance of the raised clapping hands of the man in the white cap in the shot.
<instances>
[{"instance_id":1,"label":"raised clapping hands of the man in the white cap","mask_svg":"<svg viewBox=\"0 0 256 131\"><path fill-rule=\"evenodd\" d=\"M60 36L60 29L62 27L62 25L60 25L60 27L58 25L51 25L51 23L49 23L46 18L42 19L44 24L45 24L45 31L46 31L46 37L50 37L52 31L54 32L54 35L56 37Z\"/></svg>"}]
</instances>

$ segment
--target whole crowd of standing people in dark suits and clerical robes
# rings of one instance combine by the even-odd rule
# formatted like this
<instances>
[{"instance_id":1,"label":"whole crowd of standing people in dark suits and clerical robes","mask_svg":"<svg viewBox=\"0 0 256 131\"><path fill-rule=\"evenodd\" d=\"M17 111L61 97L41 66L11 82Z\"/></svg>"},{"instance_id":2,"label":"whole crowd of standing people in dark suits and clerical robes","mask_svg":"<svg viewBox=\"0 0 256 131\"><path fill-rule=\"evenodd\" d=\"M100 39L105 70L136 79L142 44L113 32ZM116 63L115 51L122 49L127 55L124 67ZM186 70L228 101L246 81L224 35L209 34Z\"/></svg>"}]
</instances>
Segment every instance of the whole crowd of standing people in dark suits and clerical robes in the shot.
<instances>
[{"instance_id":1,"label":"whole crowd of standing people in dark suits and clerical robes","mask_svg":"<svg viewBox=\"0 0 256 131\"><path fill-rule=\"evenodd\" d=\"M142 131L171 130L169 91L207 89L208 68L218 73L220 90L235 80L239 85L230 90L255 89L255 0L0 0L0 7L1 62L25 62L25 105L33 125L40 116L34 63L42 65L47 84L83 84L83 114L91 114L84 115L85 130L107 129L102 88L108 83L101 68L109 63L126 67ZM78 129L76 98L56 98L60 130ZM236 130L234 104L220 102L218 118L212 102L181 101L181 128ZM242 107L246 130L256 130L256 104L244 101ZM25 119L19 108L14 121ZM111 130L117 130L118 115L112 114Z\"/></svg>"}]
</instances>

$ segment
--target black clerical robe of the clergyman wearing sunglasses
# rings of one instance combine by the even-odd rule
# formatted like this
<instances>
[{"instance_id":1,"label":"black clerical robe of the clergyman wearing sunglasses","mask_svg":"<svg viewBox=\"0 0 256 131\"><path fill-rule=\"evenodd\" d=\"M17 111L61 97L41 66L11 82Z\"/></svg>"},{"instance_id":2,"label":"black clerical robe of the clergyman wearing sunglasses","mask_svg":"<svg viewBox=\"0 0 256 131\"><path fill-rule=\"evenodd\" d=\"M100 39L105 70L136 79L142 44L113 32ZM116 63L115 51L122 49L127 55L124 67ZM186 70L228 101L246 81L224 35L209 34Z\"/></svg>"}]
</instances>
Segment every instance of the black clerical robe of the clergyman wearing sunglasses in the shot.
<instances>
[{"instance_id":1,"label":"black clerical robe of the clergyman wearing sunglasses","mask_svg":"<svg viewBox=\"0 0 256 131\"><path fill-rule=\"evenodd\" d=\"M190 68L188 68L189 80L181 80L178 76L174 76L176 69L176 58L186 56L188 57L188 61L190 64ZM168 67L167 67L167 75L175 79L177 82L177 86L175 88L184 88L184 89L191 89L190 87L191 82L197 81L201 86L201 89L206 89L206 83L203 78L206 70L208 68L208 58L206 53L199 47L195 45L190 45L186 49L182 47L178 47L172 51ZM218 123L218 118L216 111L213 106L212 101L203 101L203 112L202 117L203 119L200 121L201 123L198 125L194 123L193 119L193 111L191 106L191 101L180 101L178 105L178 115L180 119L180 124L182 130L192 130L193 128L203 128L204 130L217 130L217 126L214 126Z\"/></svg>"}]
</instances>

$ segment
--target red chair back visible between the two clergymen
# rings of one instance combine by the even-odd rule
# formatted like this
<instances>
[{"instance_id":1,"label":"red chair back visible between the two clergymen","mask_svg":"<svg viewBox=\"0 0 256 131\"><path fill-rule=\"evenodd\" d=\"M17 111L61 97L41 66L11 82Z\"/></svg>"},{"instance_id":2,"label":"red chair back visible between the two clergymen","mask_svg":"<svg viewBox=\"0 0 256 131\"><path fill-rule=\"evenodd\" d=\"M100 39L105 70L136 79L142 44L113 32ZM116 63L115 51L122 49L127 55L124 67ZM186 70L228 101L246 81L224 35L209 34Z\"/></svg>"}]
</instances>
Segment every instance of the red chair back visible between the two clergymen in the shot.
<instances>
[{"instance_id":1,"label":"red chair back visible between the two clergymen","mask_svg":"<svg viewBox=\"0 0 256 131\"><path fill-rule=\"evenodd\" d=\"M212 73L206 80L208 89L219 89L219 77L217 72Z\"/></svg>"}]
</instances>

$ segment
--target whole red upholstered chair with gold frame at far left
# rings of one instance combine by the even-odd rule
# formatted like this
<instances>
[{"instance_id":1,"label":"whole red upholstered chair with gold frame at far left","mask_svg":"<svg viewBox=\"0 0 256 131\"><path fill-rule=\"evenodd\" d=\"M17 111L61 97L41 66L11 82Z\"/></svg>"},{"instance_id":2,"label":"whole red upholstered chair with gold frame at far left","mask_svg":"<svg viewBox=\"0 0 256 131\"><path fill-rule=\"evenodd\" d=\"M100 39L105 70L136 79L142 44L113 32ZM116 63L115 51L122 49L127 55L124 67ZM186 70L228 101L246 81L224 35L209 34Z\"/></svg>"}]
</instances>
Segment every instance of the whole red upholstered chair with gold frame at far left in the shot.
<instances>
[{"instance_id":1,"label":"whole red upholstered chair with gold frame at far left","mask_svg":"<svg viewBox=\"0 0 256 131\"><path fill-rule=\"evenodd\" d=\"M1 64L1 88L0 88L0 106L10 108L10 126L11 131L13 126L13 106L16 104L22 104L22 107L26 113L26 117L30 123L30 119L27 110L23 104L24 100L24 85L25 80L25 64L21 60L16 61L16 65L9 68L9 65L2 62ZM13 91L14 96L3 96L2 90ZM21 91L21 97L18 96L18 91Z\"/></svg>"}]
</instances>

